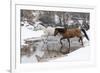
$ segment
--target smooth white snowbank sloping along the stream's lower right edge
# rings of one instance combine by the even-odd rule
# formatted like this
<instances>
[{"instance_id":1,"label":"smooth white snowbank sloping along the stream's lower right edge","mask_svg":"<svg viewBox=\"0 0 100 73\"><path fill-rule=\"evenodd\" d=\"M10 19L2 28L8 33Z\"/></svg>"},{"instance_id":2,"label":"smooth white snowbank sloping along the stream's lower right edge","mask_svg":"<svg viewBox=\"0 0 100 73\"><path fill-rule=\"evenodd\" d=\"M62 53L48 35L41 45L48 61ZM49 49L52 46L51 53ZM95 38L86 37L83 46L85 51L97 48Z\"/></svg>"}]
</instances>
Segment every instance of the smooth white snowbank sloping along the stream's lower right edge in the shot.
<instances>
[{"instance_id":1,"label":"smooth white snowbank sloping along the stream's lower right edge","mask_svg":"<svg viewBox=\"0 0 100 73\"><path fill-rule=\"evenodd\" d=\"M90 47L83 47L74 52L57 59L49 60L50 62L75 62L87 61L90 58Z\"/></svg>"}]
</instances>

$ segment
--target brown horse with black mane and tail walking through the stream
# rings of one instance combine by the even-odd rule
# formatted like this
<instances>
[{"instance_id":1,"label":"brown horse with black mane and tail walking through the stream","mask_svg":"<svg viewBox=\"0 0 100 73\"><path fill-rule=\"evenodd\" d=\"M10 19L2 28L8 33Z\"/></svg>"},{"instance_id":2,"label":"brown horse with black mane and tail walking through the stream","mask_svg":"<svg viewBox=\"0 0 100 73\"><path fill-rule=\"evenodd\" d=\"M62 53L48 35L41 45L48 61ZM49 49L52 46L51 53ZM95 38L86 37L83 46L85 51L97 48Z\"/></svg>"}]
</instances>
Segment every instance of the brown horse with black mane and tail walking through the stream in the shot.
<instances>
[{"instance_id":1,"label":"brown horse with black mane and tail walking through the stream","mask_svg":"<svg viewBox=\"0 0 100 73\"><path fill-rule=\"evenodd\" d=\"M63 37L60 39L60 43L62 45L61 40L63 39L67 39L69 42L69 50L68 53L70 52L70 38L74 38L74 37L78 37L79 41L81 40L82 46L83 46L83 37L82 37L82 32L85 34L85 37L87 38L87 40L89 40L89 37L87 35L87 33L85 32L84 29L79 29L79 28L71 28L71 29L67 29L67 28L55 28L55 32L54 32L54 36L56 36L58 33L60 33ZM62 48L62 46L61 46Z\"/></svg>"}]
</instances>

